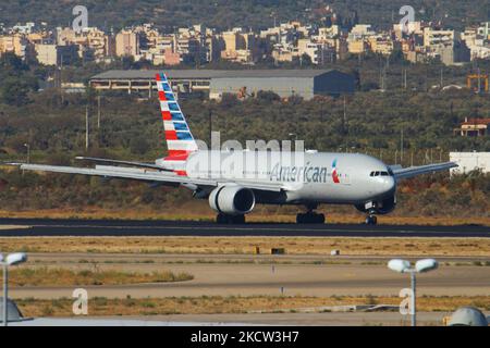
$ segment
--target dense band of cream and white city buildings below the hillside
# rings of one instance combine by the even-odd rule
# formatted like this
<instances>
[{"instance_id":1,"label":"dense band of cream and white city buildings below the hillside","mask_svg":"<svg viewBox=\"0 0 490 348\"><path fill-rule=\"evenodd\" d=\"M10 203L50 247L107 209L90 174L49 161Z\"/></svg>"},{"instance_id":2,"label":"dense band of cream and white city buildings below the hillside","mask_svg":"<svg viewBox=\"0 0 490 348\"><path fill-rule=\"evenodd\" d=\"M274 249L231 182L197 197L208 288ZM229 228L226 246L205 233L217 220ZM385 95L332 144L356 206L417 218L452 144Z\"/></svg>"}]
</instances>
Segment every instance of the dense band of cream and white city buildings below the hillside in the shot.
<instances>
[{"instance_id":1,"label":"dense band of cream and white city buildings below the hillside","mask_svg":"<svg viewBox=\"0 0 490 348\"><path fill-rule=\"evenodd\" d=\"M257 2L257 5L253 2ZM248 21L245 16L242 21L233 21L224 26L204 18L200 21L199 15L193 16L192 22L168 23L162 20L175 20L174 13L186 7L185 1L180 4L166 2L161 9L164 13L162 18L146 15L145 11L149 10L147 7L152 2L145 2L146 5L138 7L135 11L126 11L130 13L126 16L118 16L121 23L114 25L110 23L113 14L111 11L120 11L125 8L124 4L114 10L109 8L109 4L98 3L88 5L87 26L77 28L71 25L75 16L71 14L71 2L68 1L70 16L66 20L57 18L56 14L45 18L41 9L39 13L33 13L30 17L25 18L25 22L12 22L15 15L3 20L0 17L0 54L14 52L23 60L37 61L47 66L87 62L109 64L122 58L167 66L184 64L199 67L219 62L317 66L369 53L383 57L403 54L413 63L438 60L445 65L454 65L487 59L490 55L490 28L487 22L478 21L478 16L467 16L460 23L464 26L451 25L451 12L454 12L454 9L468 13L475 12L476 9L480 9L480 14L486 12L486 5L475 4L469 8L467 4L470 2L465 1L464 7L449 5L444 8L446 12L439 13L433 10L430 15L420 4L417 9L420 9L424 15L420 11L417 12L415 22L403 27L399 24L402 18L397 14L400 8L394 4L387 7L391 9L392 14L388 22L387 18L382 21L366 15L368 12L376 12L375 9L380 8L382 1L378 1L378 4L372 1L373 8L367 12L362 11L362 4L358 9L355 8L355 1L352 9L345 9L345 4L316 4L318 8L305 9L307 4L301 2L281 1L279 7L278 1L250 1L246 7L252 7L255 11L261 7L270 8L270 12L265 12L267 21L255 25L254 21ZM237 2L217 1L216 5L226 8L233 7L232 3ZM314 4L314 1L310 4ZM127 1L125 5L131 9L134 3ZM155 5L152 11L159 13L157 10L162 5ZM205 4L187 7L192 13L201 5ZM366 3L364 5L367 7ZM24 7L24 11L15 11L14 2L8 1L2 4L0 13L4 15L9 12L7 9L11 8L11 11L24 16L30 13L32 9L38 9L39 4L26 3ZM44 7L49 9L52 4L48 1L44 2ZM279 8L282 11L301 9L297 13L303 15L298 17L295 14L284 14L278 17L275 8L278 11ZM211 12L217 14L221 9ZM342 12L347 12L347 15L341 14ZM105 13L107 15L103 16L102 23L93 17ZM232 15L233 11L228 13L229 15L223 17ZM247 12L240 9L238 13ZM131 17L127 17L130 15ZM457 15L461 17L462 13Z\"/></svg>"}]
</instances>

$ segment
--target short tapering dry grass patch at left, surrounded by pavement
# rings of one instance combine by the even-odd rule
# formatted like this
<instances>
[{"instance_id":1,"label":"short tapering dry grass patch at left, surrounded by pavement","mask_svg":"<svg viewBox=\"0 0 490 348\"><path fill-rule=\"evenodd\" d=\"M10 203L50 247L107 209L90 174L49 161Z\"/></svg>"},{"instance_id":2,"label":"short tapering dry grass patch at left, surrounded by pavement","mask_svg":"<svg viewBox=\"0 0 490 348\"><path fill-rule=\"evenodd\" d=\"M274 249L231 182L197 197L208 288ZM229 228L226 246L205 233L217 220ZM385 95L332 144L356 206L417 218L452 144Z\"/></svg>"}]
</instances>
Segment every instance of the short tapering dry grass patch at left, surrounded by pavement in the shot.
<instances>
[{"instance_id":1,"label":"short tapering dry grass patch at left, surrounded by pavement","mask_svg":"<svg viewBox=\"0 0 490 348\"><path fill-rule=\"evenodd\" d=\"M10 272L10 283L15 286L79 286L119 285L139 283L168 283L191 281L187 273L174 274L170 271L135 273L120 271L73 271L68 269L14 269Z\"/></svg>"}]
</instances>

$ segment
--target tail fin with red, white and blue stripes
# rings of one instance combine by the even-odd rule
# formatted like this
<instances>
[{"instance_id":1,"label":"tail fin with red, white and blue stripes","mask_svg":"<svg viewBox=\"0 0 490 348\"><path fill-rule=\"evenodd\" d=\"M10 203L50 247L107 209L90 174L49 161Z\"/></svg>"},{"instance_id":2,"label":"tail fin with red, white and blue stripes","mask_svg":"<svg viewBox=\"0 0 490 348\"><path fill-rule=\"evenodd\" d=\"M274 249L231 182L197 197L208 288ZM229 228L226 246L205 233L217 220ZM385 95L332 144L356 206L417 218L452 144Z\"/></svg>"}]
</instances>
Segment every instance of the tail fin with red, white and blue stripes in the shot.
<instances>
[{"instance_id":1,"label":"tail fin with red, white and blue stripes","mask_svg":"<svg viewBox=\"0 0 490 348\"><path fill-rule=\"evenodd\" d=\"M191 152L197 150L197 144L166 74L157 74L156 79L161 117L169 148L169 157L166 158L166 161L185 161Z\"/></svg>"}]
</instances>

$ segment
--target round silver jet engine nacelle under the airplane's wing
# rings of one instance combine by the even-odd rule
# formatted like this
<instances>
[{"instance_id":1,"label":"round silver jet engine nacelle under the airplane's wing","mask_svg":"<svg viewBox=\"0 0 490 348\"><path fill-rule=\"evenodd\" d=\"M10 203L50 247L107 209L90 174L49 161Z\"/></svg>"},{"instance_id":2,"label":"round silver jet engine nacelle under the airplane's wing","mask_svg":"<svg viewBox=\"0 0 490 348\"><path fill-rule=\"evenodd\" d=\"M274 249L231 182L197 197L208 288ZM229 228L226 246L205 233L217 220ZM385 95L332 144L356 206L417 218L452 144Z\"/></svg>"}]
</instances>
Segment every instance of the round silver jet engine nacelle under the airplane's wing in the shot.
<instances>
[{"instance_id":1,"label":"round silver jet engine nacelle under the airplane's wing","mask_svg":"<svg viewBox=\"0 0 490 348\"><path fill-rule=\"evenodd\" d=\"M243 215L255 207L255 195L249 188L242 186L221 186L209 195L212 210L226 215Z\"/></svg>"}]
</instances>

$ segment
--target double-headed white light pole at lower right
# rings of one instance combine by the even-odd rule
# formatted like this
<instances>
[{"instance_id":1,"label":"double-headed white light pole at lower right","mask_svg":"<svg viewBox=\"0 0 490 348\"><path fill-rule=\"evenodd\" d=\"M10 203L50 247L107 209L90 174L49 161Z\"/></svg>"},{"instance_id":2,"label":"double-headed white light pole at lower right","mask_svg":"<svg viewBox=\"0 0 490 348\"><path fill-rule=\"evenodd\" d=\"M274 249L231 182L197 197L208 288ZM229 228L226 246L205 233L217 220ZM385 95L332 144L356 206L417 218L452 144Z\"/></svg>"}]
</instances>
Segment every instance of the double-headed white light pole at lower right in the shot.
<instances>
[{"instance_id":1,"label":"double-headed white light pole at lower right","mask_svg":"<svg viewBox=\"0 0 490 348\"><path fill-rule=\"evenodd\" d=\"M439 266L438 261L434 259L424 259L418 260L415 263L415 268L412 268L412 264L407 260L393 259L388 262L388 268L392 271L399 273L409 273L411 275L411 286L412 286L412 296L411 296L411 315L412 315L412 326L417 326L417 310L416 310L416 287L417 279L415 277L416 273L426 273L432 270L436 270Z\"/></svg>"}]
</instances>

